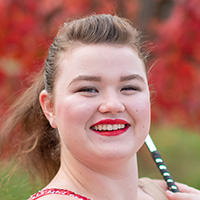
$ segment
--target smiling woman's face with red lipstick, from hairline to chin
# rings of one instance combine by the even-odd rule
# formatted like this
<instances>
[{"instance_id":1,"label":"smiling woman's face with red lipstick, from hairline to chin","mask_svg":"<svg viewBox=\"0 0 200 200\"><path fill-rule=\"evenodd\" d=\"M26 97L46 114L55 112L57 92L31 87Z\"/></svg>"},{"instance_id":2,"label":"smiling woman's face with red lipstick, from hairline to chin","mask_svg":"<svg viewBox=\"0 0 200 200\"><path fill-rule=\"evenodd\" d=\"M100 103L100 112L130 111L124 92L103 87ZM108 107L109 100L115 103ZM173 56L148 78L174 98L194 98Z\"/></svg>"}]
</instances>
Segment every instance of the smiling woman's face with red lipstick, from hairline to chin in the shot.
<instances>
[{"instance_id":1,"label":"smiling woman's face with red lipstick, from hairline to chin","mask_svg":"<svg viewBox=\"0 0 200 200\"><path fill-rule=\"evenodd\" d=\"M150 127L145 66L130 47L85 45L60 58L54 127L61 156L82 163L132 157Z\"/></svg>"}]
</instances>

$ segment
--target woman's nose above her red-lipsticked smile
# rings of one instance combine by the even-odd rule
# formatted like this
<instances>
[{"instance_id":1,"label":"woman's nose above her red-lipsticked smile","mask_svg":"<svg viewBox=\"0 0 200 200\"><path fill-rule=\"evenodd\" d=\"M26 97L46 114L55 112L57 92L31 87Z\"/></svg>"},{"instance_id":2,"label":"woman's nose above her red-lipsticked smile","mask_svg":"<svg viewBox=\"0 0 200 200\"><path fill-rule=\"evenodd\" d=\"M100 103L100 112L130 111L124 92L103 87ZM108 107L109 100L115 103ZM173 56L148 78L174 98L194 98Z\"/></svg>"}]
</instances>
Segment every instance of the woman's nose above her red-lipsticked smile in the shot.
<instances>
[{"instance_id":1,"label":"woman's nose above her red-lipsticked smile","mask_svg":"<svg viewBox=\"0 0 200 200\"><path fill-rule=\"evenodd\" d=\"M124 104L120 101L119 97L114 94L105 95L103 97L102 103L99 106L99 111L101 113L120 113L125 110Z\"/></svg>"}]
</instances>

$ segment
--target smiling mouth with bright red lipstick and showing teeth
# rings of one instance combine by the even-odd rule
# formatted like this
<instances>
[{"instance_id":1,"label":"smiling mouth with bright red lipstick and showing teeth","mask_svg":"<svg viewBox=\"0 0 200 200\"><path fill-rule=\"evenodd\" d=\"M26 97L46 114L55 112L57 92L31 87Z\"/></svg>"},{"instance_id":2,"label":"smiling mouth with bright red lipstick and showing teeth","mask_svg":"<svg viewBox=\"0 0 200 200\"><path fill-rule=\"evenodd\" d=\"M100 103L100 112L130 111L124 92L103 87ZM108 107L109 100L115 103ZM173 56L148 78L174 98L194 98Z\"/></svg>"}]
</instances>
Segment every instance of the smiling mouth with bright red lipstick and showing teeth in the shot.
<instances>
[{"instance_id":1,"label":"smiling mouth with bright red lipstick and showing teeth","mask_svg":"<svg viewBox=\"0 0 200 200\"><path fill-rule=\"evenodd\" d=\"M117 136L126 132L130 124L122 119L105 119L93 124L91 130L103 136Z\"/></svg>"}]
</instances>

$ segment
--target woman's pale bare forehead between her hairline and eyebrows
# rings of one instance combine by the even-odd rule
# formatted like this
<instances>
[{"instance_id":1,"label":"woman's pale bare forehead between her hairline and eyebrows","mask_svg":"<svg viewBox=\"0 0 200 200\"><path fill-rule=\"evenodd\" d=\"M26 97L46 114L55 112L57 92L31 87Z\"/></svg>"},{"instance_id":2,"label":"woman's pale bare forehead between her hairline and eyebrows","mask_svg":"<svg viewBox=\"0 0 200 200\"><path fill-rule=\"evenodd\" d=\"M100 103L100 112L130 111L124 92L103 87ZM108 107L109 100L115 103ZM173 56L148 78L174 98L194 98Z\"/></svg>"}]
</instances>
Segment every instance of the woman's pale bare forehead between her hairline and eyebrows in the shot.
<instances>
[{"instance_id":1,"label":"woman's pale bare forehead between her hairline and eyebrows","mask_svg":"<svg viewBox=\"0 0 200 200\"><path fill-rule=\"evenodd\" d=\"M145 74L144 62L138 53L128 46L119 45L81 45L69 52L63 52L59 58L60 73L77 75L91 72L105 73L111 70L113 74L131 73L133 70ZM115 73L114 73L115 72Z\"/></svg>"}]
</instances>

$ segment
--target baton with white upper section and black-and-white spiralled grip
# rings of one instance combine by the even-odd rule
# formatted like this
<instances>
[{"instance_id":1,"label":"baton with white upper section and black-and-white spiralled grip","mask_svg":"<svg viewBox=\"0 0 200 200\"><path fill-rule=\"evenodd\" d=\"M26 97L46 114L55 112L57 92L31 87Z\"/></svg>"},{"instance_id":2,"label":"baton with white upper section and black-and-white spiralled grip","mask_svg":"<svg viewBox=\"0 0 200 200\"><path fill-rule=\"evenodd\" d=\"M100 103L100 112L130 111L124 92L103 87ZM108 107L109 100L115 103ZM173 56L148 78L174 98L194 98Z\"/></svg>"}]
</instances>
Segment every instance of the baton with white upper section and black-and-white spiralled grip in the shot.
<instances>
[{"instance_id":1,"label":"baton with white upper section and black-and-white spiralled grip","mask_svg":"<svg viewBox=\"0 0 200 200\"><path fill-rule=\"evenodd\" d=\"M155 161L160 173L162 174L163 178L165 179L167 186L170 191L172 192L179 192L178 187L175 185L172 176L170 175L160 153L157 151L155 144L153 143L150 135L148 134L145 143L152 155L153 160Z\"/></svg>"}]
</instances>

